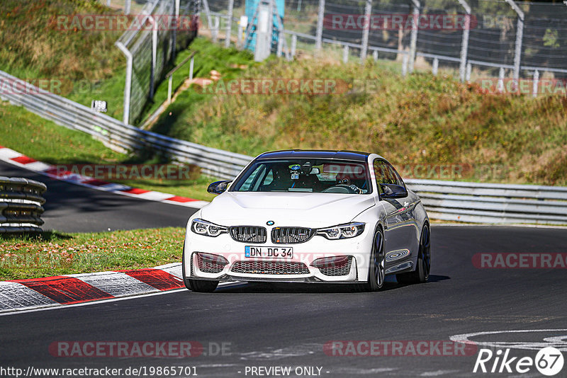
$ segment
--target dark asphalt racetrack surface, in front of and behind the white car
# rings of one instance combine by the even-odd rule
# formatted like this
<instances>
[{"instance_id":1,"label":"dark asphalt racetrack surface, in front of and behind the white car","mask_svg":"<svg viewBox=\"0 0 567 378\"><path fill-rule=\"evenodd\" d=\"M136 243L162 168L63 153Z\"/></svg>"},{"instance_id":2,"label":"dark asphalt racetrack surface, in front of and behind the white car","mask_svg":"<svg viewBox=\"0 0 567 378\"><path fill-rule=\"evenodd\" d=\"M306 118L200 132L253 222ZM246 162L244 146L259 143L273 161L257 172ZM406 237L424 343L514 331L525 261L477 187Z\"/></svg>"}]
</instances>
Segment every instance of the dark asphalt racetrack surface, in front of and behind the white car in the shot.
<instances>
[{"instance_id":1,"label":"dark asphalt racetrack surface, in front of and behind the white car","mask_svg":"<svg viewBox=\"0 0 567 378\"><path fill-rule=\"evenodd\" d=\"M6 167L1 165L1 168L1 174L6 175ZM18 175L12 176L34 178L33 174L26 175L26 171L16 168L13 172ZM173 205L68 188L73 185L65 183L47 185L50 194L46 209L51 214L46 220L50 227L63 224L57 222L74 222L69 219L85 214L94 219L93 223L74 225L77 230L101 227L105 223L111 227L107 222L115 222L112 227L117 228L143 227L143 224L174 226L183 224L189 217L184 207L176 212ZM77 193L84 196L85 191L93 193L86 198L74 197ZM140 219L150 214L151 219ZM58 221L56 217L62 219ZM106 220L102 223L95 220L99 217ZM567 270L478 269L472 258L475 253L565 253L566 245L566 229L433 226L432 276L424 285L398 285L391 280L386 290L376 293L352 292L349 286L239 285L219 288L212 294L180 290L0 316L0 366L24 370L188 366L196 369L198 377L275 377L247 372L247 367L269 366L292 367L292 372L298 366L320 367L320 377L542 377L534 368L526 374L473 374L476 353L458 357L407 354L345 357L327 355L323 345L331 340L447 341L462 333L565 330ZM566 335L567 330L539 331L487 334L474 340L532 345L546 343L543 339L552 336L566 340ZM185 358L50 354L51 343L75 340L197 341L205 346L206 353ZM211 353L220 343L228 343L224 355ZM510 355L534 357L536 354L535 350L519 348L523 347L515 344ZM174 376L186 377L186 374ZM567 366L555 377L566 376Z\"/></svg>"}]
</instances>

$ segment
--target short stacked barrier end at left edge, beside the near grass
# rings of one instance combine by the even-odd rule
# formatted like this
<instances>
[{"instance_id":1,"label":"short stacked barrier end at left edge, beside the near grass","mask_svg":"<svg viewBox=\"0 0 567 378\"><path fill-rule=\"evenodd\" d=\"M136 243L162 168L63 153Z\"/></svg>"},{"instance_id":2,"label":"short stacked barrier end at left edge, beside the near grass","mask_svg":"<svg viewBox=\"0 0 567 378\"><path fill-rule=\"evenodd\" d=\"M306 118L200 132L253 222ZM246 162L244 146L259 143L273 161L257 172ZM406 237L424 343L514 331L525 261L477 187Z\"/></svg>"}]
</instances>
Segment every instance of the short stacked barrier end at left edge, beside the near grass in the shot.
<instances>
[{"instance_id":1,"label":"short stacked barrier end at left edge, beside the near grass","mask_svg":"<svg viewBox=\"0 0 567 378\"><path fill-rule=\"evenodd\" d=\"M0 176L0 234L42 231L44 183Z\"/></svg>"}]
</instances>

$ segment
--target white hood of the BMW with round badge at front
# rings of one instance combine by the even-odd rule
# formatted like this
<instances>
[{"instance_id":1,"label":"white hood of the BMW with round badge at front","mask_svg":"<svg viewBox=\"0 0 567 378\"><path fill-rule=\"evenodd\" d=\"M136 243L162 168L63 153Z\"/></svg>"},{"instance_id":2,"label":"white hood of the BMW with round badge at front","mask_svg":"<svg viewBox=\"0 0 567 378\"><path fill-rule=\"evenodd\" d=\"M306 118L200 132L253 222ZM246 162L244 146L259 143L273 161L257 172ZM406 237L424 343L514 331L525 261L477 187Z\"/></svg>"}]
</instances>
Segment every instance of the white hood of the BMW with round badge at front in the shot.
<instances>
[{"instance_id":1,"label":"white hood of the BMW with round badge at front","mask_svg":"<svg viewBox=\"0 0 567 378\"><path fill-rule=\"evenodd\" d=\"M201 217L223 226L327 227L350 222L376 205L372 195L338 193L225 192L201 209Z\"/></svg>"}]
</instances>

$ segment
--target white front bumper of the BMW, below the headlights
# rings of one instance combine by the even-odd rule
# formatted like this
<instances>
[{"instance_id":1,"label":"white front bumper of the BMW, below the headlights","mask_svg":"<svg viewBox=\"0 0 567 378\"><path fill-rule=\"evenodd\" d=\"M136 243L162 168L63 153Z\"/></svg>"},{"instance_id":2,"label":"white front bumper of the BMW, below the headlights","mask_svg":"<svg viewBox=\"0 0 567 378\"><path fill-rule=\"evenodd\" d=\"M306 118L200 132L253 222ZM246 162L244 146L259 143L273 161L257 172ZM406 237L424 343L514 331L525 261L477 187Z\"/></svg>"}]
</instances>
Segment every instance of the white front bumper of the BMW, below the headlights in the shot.
<instances>
[{"instance_id":1,"label":"white front bumper of the BMW, below the headlights","mask_svg":"<svg viewBox=\"0 0 567 378\"><path fill-rule=\"evenodd\" d=\"M371 255L372 234L365 231L352 239L328 240L315 235L301 244L247 244L235 241L229 234L216 237L186 231L185 271L199 280L264 282L366 282ZM249 258L246 246L291 247L293 258ZM198 254L201 253L201 254ZM203 253L222 256L223 263L205 259ZM316 268L320 258L347 256L348 264Z\"/></svg>"}]
</instances>

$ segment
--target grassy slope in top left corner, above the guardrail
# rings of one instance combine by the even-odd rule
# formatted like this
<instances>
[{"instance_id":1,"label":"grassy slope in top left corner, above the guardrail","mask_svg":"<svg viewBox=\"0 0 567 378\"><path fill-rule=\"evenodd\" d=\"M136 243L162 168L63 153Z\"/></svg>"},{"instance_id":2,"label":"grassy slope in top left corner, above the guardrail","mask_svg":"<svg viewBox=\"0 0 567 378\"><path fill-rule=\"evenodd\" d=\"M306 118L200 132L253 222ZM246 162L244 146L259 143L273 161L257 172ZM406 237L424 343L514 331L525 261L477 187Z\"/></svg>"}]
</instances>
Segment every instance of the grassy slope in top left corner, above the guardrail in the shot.
<instances>
[{"instance_id":1,"label":"grassy slope in top left corner, above the guardrail","mask_svg":"<svg viewBox=\"0 0 567 378\"><path fill-rule=\"evenodd\" d=\"M42 79L47 91L82 105L107 101L107 114L122 119L125 57L114 42L123 32L57 26L57 16L118 12L90 0L1 1L1 69L30 82Z\"/></svg>"}]
</instances>

